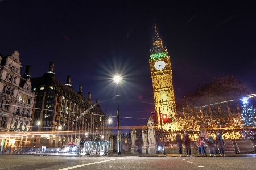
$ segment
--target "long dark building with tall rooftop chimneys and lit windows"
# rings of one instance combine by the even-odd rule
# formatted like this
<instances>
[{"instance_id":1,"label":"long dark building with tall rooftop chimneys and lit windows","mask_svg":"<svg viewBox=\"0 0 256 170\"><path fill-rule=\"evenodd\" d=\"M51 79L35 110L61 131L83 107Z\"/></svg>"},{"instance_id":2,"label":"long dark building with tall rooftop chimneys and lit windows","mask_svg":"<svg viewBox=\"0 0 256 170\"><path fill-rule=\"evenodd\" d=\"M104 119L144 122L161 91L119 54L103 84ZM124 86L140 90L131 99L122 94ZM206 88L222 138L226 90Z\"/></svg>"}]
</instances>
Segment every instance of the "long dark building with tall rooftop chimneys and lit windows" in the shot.
<instances>
[{"instance_id":1,"label":"long dark building with tall rooftop chimneys and lit windows","mask_svg":"<svg viewBox=\"0 0 256 170\"><path fill-rule=\"evenodd\" d=\"M32 78L32 91L36 94L31 131L40 131L35 135L36 145L60 146L69 142L79 142L83 139L101 139L105 136L106 116L102 112L99 100L96 104L79 92L75 92L71 85L71 76L67 76L67 83L61 83L53 72L54 63L49 63L49 70L43 76ZM40 122L40 125L37 124ZM56 132L65 131L62 138ZM85 133L88 134L85 137ZM36 138L36 140L35 140Z\"/></svg>"}]
</instances>

